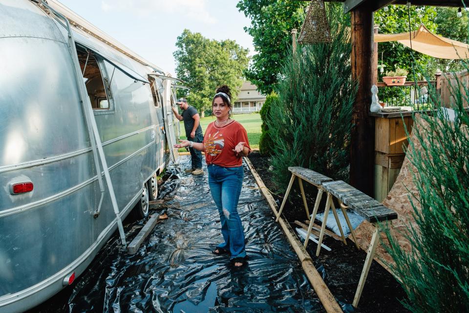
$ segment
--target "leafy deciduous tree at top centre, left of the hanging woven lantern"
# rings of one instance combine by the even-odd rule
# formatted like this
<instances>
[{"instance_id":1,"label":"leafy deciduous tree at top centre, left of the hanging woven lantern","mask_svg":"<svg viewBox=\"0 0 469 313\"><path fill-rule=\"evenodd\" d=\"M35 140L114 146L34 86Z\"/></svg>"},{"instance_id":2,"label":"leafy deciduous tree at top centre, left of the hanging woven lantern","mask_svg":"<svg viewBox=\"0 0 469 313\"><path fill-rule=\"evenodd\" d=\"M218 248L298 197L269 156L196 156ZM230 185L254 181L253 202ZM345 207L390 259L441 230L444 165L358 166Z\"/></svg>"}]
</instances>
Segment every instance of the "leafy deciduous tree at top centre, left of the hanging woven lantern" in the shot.
<instances>
[{"instance_id":1,"label":"leafy deciduous tree at top centre, left of the hanging woven lantern","mask_svg":"<svg viewBox=\"0 0 469 313\"><path fill-rule=\"evenodd\" d=\"M253 37L257 54L245 76L264 94L277 84L281 63L291 44L290 31L300 29L306 1L240 0L236 7L251 19L244 30Z\"/></svg>"}]
</instances>

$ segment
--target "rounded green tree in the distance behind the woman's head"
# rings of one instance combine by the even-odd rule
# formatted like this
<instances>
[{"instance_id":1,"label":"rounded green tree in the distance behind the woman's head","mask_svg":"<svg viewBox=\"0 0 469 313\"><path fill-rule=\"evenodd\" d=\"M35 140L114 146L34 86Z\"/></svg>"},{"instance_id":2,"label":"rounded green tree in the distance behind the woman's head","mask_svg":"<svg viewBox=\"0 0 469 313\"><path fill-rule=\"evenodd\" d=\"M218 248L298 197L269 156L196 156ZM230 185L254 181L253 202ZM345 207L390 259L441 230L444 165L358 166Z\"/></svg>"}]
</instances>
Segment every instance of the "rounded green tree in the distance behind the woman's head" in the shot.
<instances>
[{"instance_id":1,"label":"rounded green tree in the distance behind the woman's head","mask_svg":"<svg viewBox=\"0 0 469 313\"><path fill-rule=\"evenodd\" d=\"M235 98L243 83L243 71L248 67L248 49L233 40L211 40L189 29L177 37L176 47L173 55L177 77L192 89L190 92L179 89L178 95L187 96L188 102L202 114L210 108L217 86L228 85Z\"/></svg>"}]
</instances>

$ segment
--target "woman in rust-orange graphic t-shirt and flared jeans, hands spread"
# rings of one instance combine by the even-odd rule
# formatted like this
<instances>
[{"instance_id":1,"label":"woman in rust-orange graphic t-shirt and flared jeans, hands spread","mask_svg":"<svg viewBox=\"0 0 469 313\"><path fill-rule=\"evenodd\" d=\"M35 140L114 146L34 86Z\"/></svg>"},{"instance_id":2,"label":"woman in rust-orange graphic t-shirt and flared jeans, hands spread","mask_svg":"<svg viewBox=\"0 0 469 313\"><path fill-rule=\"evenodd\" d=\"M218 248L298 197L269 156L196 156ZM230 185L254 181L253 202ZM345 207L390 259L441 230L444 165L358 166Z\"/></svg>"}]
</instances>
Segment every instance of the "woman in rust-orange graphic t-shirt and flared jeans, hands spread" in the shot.
<instances>
[{"instance_id":1,"label":"woman in rust-orange graphic t-shirt and flared jeans, hands spread","mask_svg":"<svg viewBox=\"0 0 469 313\"><path fill-rule=\"evenodd\" d=\"M216 246L214 254L230 252L233 265L245 264L244 230L236 209L243 183L242 157L251 151L244 127L230 118L231 92L224 85L216 89L212 102L216 120L205 131L203 143L179 140L176 148L191 147L205 151L209 186L220 214L224 243Z\"/></svg>"}]
</instances>

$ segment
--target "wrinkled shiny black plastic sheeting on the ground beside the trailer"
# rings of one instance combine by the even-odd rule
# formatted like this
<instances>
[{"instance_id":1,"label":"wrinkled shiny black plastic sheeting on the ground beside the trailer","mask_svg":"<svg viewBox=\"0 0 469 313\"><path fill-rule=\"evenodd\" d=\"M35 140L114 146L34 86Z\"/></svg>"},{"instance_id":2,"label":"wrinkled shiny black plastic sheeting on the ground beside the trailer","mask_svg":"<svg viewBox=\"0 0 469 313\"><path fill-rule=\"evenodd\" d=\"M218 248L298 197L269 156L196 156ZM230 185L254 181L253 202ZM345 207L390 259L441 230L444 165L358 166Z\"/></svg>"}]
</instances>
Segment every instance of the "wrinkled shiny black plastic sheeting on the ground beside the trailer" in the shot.
<instances>
[{"instance_id":1,"label":"wrinkled shiny black plastic sheeting on the ground beside the trailer","mask_svg":"<svg viewBox=\"0 0 469 313\"><path fill-rule=\"evenodd\" d=\"M184 173L190 156L169 166L160 189L159 222L137 254L110 240L72 291L70 312L324 312L273 212L258 189L238 204L248 263L211 253L222 242L218 211L203 176ZM244 164L245 186L257 187ZM128 240L142 224L128 230Z\"/></svg>"}]
</instances>

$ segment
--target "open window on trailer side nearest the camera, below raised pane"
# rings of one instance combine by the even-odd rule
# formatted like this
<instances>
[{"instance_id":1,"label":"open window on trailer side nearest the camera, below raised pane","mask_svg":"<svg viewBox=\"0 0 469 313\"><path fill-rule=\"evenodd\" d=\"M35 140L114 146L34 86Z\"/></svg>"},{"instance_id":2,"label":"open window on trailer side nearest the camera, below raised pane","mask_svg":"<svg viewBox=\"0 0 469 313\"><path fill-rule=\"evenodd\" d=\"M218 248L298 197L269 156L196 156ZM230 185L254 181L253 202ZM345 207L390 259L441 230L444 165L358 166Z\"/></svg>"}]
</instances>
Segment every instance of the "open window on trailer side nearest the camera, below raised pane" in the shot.
<instances>
[{"instance_id":1,"label":"open window on trailer side nearest the camera, below raised pane","mask_svg":"<svg viewBox=\"0 0 469 313\"><path fill-rule=\"evenodd\" d=\"M106 69L93 51L77 49L86 91L93 110L110 109L110 86Z\"/></svg>"}]
</instances>

